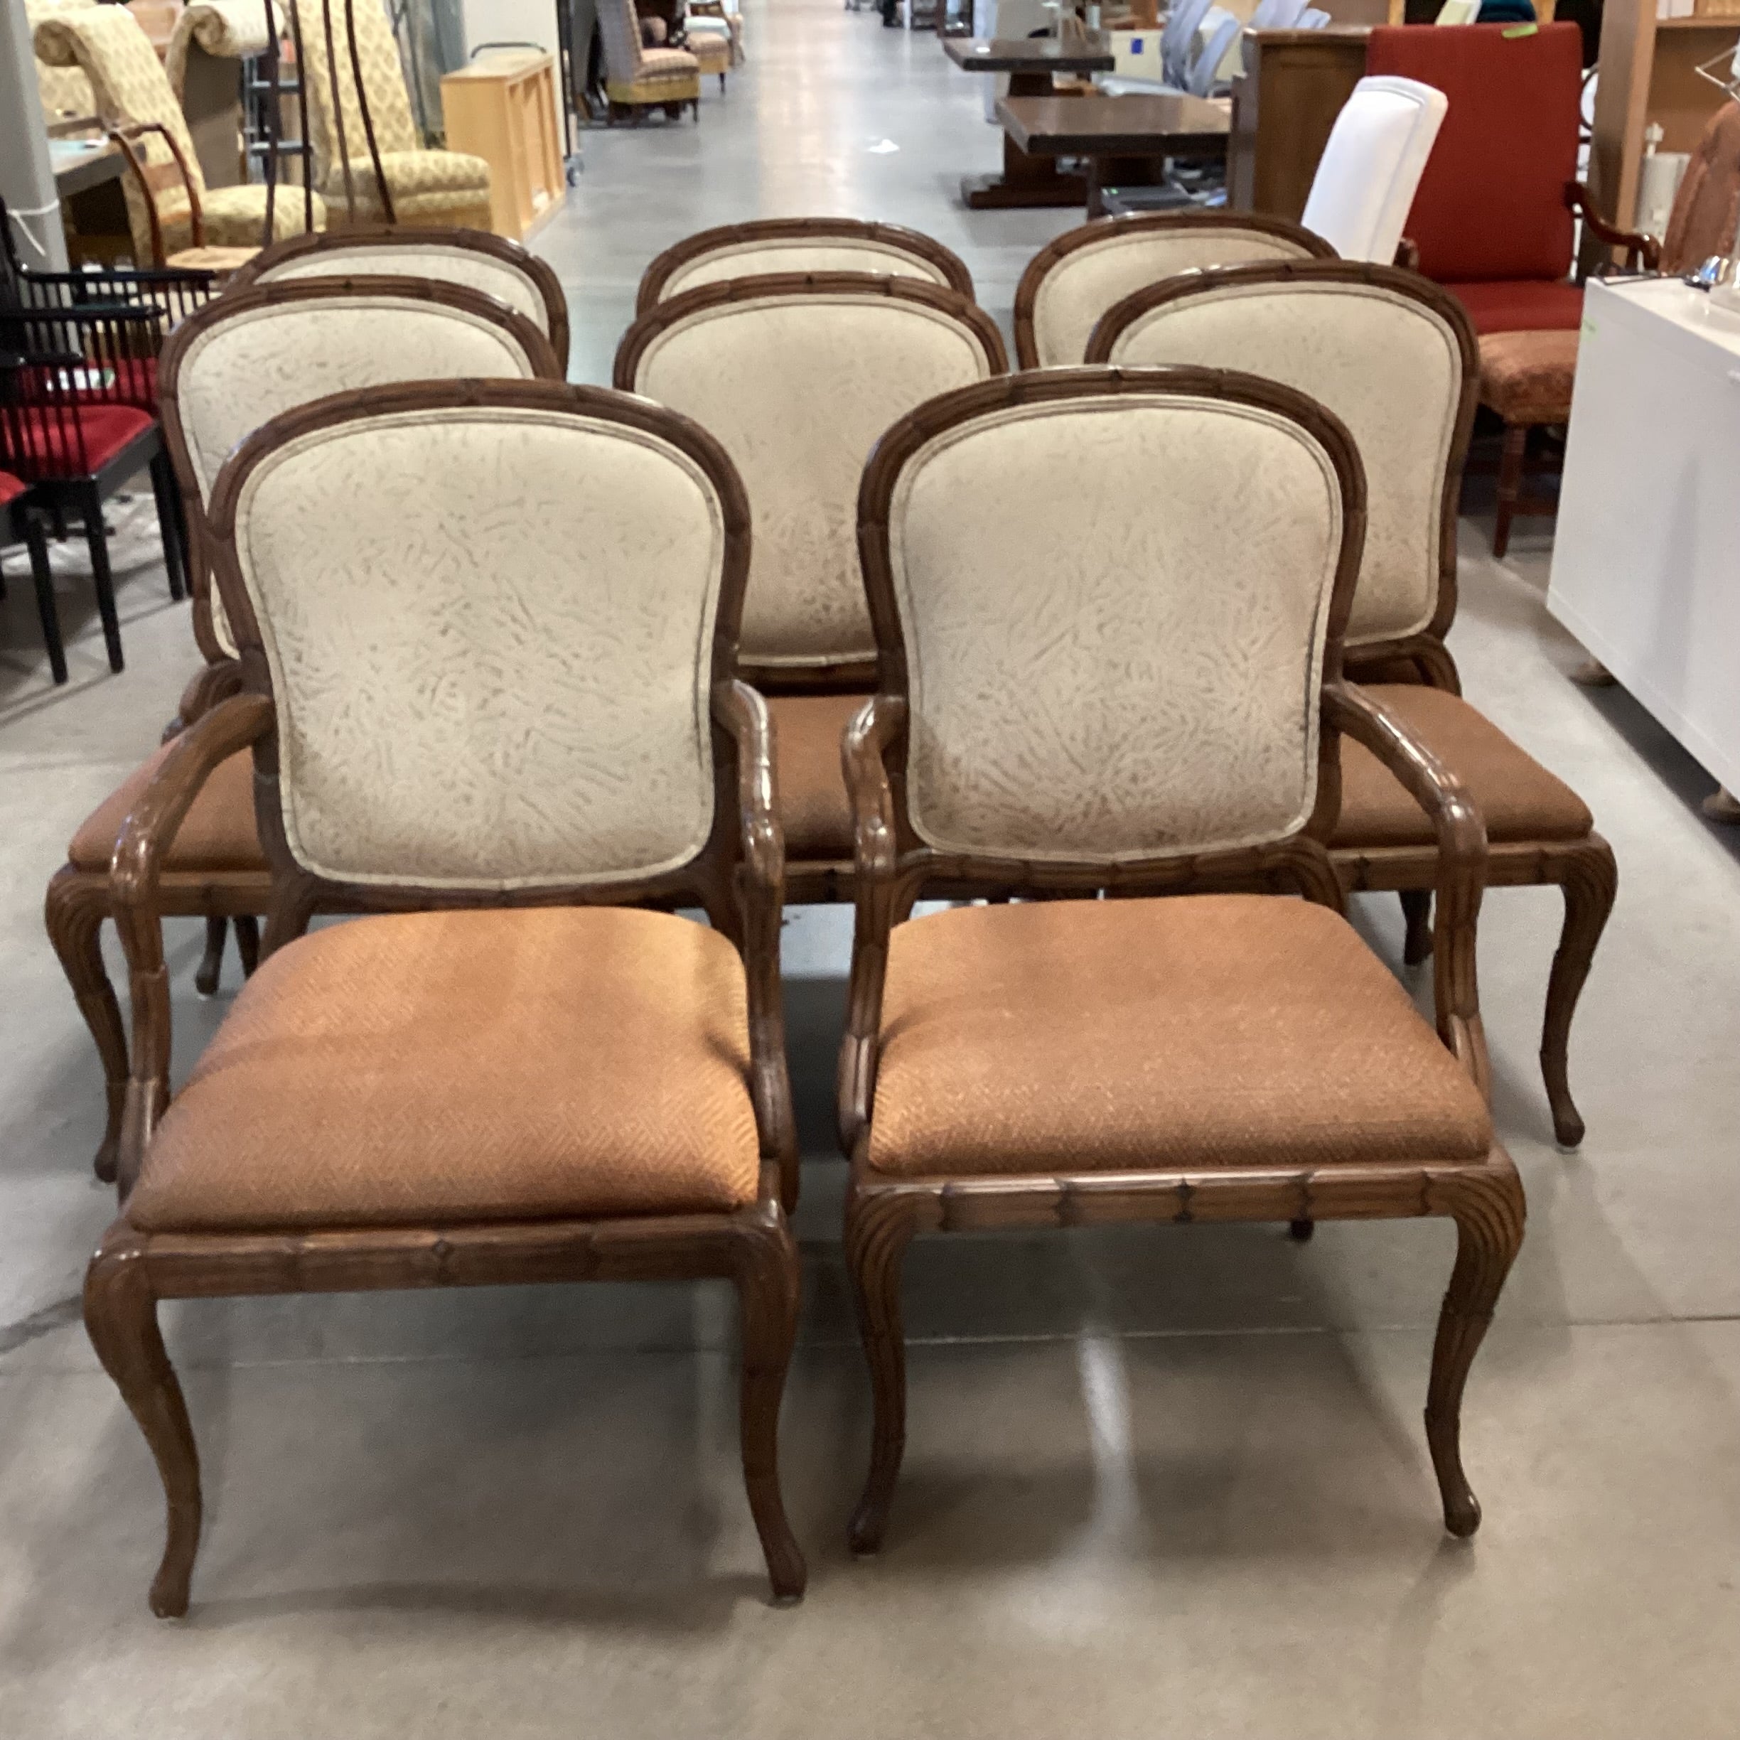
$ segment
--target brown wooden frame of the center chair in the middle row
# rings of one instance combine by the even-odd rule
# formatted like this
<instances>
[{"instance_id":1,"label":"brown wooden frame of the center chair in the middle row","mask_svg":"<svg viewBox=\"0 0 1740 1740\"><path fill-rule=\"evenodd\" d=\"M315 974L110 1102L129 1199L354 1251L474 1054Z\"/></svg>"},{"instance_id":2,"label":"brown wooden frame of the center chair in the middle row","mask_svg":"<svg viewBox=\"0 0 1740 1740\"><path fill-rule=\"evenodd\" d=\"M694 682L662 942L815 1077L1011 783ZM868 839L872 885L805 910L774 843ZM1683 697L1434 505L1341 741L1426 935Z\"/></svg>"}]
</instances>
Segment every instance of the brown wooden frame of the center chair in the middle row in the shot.
<instances>
[{"instance_id":1,"label":"brown wooden frame of the center chair in the middle row","mask_svg":"<svg viewBox=\"0 0 1740 1740\"><path fill-rule=\"evenodd\" d=\"M802 219L806 224L811 221L814 219ZM887 230L889 226L867 224L863 228ZM762 224L740 224L736 233L743 235L752 230L767 230L773 233L773 226ZM717 235L720 231L712 233ZM860 233L860 226L854 224L849 231L840 233L856 235ZM696 238L691 237L691 240ZM647 277L642 278L642 296L656 268L658 261L647 268ZM985 360L992 374L1002 376L1007 372L1009 357L1002 345L1002 334L997 331L997 322L978 303L959 291L926 284L922 278L887 278L860 271L781 271L759 278L722 278L717 284L696 285L696 289L672 296L668 301L652 303L623 334L623 341L616 350L614 383L621 392L639 392L635 379L640 358L652 341L670 327L680 325L706 308L717 308L726 303L764 301L774 296L826 296L840 292L887 296L893 301L920 303L927 308L941 310L974 334L985 351ZM840 659L833 665L807 666L804 670L743 661L740 663L740 670L746 682L753 684L762 694L773 696L863 694L868 699L877 680L877 663L873 658ZM849 900L851 889L851 860L786 860L786 898L792 905Z\"/></svg>"}]
</instances>

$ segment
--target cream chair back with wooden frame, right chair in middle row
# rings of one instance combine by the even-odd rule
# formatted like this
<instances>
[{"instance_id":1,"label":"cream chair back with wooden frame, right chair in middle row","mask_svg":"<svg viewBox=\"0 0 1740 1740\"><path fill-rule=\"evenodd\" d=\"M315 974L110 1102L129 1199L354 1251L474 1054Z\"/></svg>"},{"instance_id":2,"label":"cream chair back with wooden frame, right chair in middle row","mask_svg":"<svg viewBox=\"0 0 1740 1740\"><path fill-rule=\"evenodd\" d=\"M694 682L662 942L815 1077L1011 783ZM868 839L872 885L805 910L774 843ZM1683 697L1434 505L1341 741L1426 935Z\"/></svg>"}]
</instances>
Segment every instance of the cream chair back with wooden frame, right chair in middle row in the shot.
<instances>
[{"instance_id":1,"label":"cream chair back with wooden frame, right chair in middle row","mask_svg":"<svg viewBox=\"0 0 1740 1740\"><path fill-rule=\"evenodd\" d=\"M1462 304L1392 266L1241 266L1155 285L1107 315L1093 362L1239 367L1308 393L1366 468L1348 649L1449 626L1456 492L1479 390Z\"/></svg>"}]
</instances>

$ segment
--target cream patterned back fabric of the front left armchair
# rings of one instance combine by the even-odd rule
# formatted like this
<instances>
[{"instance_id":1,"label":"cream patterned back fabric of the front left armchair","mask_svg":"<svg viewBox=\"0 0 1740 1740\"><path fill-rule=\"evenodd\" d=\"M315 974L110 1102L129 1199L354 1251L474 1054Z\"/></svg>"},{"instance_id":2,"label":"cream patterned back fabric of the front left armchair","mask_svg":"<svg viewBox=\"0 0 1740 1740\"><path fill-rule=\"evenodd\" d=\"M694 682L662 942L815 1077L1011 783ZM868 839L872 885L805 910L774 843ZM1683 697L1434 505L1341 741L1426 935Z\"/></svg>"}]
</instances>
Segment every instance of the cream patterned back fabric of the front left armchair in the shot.
<instances>
[{"instance_id":1,"label":"cream patterned back fabric of the front left armchair","mask_svg":"<svg viewBox=\"0 0 1740 1740\"><path fill-rule=\"evenodd\" d=\"M687 863L722 552L699 468L618 425L419 412L273 454L237 555L296 860L487 889Z\"/></svg>"}]
</instances>

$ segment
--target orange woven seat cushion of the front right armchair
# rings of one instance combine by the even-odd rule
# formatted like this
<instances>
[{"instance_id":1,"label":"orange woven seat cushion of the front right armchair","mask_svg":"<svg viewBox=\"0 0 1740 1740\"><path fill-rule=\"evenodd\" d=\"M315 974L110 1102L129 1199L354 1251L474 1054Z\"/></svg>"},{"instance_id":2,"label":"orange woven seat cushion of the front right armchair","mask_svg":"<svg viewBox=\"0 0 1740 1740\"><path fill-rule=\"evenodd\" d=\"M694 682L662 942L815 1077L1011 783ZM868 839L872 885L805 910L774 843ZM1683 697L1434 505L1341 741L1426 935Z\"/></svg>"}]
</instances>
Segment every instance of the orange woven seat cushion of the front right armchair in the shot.
<instances>
[{"instance_id":1,"label":"orange woven seat cushion of the front right armchair","mask_svg":"<svg viewBox=\"0 0 1740 1740\"><path fill-rule=\"evenodd\" d=\"M1479 1089L1324 907L1061 900L893 933L880 1173L1467 1161L1491 1140Z\"/></svg>"}]
</instances>

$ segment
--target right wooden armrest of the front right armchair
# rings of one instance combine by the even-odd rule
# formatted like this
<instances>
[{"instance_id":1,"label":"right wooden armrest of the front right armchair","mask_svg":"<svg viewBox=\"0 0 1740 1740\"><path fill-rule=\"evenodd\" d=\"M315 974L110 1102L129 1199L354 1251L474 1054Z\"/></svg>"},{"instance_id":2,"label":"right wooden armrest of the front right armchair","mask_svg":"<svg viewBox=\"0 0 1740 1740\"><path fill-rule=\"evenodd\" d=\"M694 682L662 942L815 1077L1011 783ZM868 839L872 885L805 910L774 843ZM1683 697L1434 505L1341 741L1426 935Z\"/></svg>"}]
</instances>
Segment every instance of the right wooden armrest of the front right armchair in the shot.
<instances>
[{"instance_id":1,"label":"right wooden armrest of the front right armchair","mask_svg":"<svg viewBox=\"0 0 1740 1740\"><path fill-rule=\"evenodd\" d=\"M1486 823L1462 781L1382 701L1352 684L1328 684L1324 720L1362 743L1432 818L1437 884L1432 914L1432 990L1439 1039L1491 1096L1481 1028L1476 922L1486 887Z\"/></svg>"}]
</instances>

